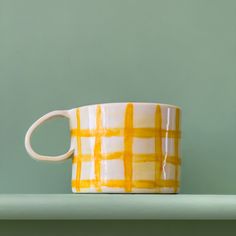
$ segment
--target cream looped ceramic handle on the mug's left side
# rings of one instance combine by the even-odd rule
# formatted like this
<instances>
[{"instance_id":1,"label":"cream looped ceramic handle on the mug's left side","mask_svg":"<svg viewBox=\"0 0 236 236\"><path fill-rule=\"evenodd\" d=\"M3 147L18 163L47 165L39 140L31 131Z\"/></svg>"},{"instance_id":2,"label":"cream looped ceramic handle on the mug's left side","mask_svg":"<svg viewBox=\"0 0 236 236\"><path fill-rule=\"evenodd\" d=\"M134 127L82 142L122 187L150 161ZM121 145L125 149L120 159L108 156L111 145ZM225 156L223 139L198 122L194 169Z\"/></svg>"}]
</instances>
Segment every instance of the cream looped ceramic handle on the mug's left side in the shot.
<instances>
[{"instance_id":1,"label":"cream looped ceramic handle on the mug's left side","mask_svg":"<svg viewBox=\"0 0 236 236\"><path fill-rule=\"evenodd\" d=\"M66 117L66 118L70 118L69 112L66 110L63 111L52 111L47 113L46 115L42 116L41 118L39 118L38 120L36 120L32 126L28 129L26 135L25 135L25 148L26 151L28 152L28 154L36 160L40 160L40 161L63 161L68 159L74 152L74 148L72 147L72 143L70 144L70 148L69 150L62 154L62 155L58 155L58 156L44 156L44 155L40 155L37 152L35 152L31 146L31 136L34 132L34 130L41 125L42 123L44 123L47 120L50 120L52 118L55 117Z\"/></svg>"}]
</instances>

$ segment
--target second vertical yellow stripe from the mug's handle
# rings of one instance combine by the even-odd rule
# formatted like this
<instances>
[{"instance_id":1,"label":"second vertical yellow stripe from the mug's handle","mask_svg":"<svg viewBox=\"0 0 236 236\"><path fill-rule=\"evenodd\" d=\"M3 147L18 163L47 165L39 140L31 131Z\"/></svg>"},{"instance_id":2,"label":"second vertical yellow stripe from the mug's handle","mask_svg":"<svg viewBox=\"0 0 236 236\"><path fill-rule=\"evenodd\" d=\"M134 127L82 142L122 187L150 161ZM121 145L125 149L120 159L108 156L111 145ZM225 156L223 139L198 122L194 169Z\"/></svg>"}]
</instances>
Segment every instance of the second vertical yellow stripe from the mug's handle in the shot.
<instances>
[{"instance_id":1,"label":"second vertical yellow stripe from the mug's handle","mask_svg":"<svg viewBox=\"0 0 236 236\"><path fill-rule=\"evenodd\" d=\"M96 136L95 136L95 146L94 146L94 161L95 161L95 178L96 178L96 189L101 192L101 134L102 129L102 111L101 106L97 106L96 111Z\"/></svg>"}]
</instances>

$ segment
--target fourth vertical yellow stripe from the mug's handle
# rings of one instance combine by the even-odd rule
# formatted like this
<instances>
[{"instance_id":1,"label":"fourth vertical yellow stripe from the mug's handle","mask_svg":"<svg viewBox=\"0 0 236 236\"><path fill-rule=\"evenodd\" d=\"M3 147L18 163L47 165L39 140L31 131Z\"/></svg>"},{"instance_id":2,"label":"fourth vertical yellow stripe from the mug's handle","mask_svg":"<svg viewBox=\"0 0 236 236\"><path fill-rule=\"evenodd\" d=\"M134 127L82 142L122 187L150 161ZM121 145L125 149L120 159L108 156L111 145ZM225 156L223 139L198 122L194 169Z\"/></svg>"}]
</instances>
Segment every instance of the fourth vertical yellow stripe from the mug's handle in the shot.
<instances>
[{"instance_id":1,"label":"fourth vertical yellow stripe from the mug's handle","mask_svg":"<svg viewBox=\"0 0 236 236\"><path fill-rule=\"evenodd\" d=\"M156 106L155 112L155 128L161 131L162 126L162 116L160 105ZM155 180L156 186L159 186L162 179L162 167L163 167L163 155L162 155L162 135L161 132L156 132L155 135L155 154L156 154L156 166L155 166Z\"/></svg>"}]
</instances>

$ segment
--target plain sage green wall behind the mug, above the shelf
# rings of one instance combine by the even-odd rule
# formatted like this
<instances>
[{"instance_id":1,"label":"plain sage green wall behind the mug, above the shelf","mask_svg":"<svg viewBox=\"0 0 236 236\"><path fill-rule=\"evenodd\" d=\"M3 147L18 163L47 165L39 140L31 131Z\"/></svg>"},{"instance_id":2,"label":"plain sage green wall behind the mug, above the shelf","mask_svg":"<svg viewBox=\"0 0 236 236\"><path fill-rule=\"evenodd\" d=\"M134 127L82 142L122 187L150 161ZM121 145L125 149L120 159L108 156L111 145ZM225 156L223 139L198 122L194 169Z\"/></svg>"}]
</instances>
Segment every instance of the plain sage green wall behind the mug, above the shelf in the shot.
<instances>
[{"instance_id":1,"label":"plain sage green wall behind the mug, above the shelf","mask_svg":"<svg viewBox=\"0 0 236 236\"><path fill-rule=\"evenodd\" d=\"M43 114L85 104L183 108L182 193L235 194L236 1L0 0L0 193L70 193L71 161L24 149ZM67 120L33 139L69 146Z\"/></svg>"}]
</instances>

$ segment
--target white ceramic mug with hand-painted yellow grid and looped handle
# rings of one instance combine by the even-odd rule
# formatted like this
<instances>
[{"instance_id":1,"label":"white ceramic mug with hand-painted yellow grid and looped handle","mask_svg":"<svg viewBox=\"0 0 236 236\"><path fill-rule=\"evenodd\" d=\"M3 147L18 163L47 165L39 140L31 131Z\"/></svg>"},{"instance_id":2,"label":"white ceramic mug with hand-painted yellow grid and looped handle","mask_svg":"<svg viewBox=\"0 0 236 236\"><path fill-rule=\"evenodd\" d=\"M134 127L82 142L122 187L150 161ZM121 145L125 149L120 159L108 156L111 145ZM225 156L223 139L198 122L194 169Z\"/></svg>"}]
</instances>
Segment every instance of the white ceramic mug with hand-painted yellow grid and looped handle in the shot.
<instances>
[{"instance_id":1,"label":"white ceramic mug with hand-painted yellow grid and looped handle","mask_svg":"<svg viewBox=\"0 0 236 236\"><path fill-rule=\"evenodd\" d=\"M37 160L72 159L72 191L177 193L180 182L180 108L158 103L107 103L50 112L25 136ZM70 121L71 144L59 156L36 153L33 131L54 117Z\"/></svg>"}]
</instances>

